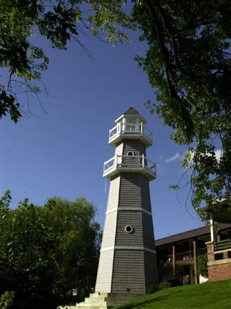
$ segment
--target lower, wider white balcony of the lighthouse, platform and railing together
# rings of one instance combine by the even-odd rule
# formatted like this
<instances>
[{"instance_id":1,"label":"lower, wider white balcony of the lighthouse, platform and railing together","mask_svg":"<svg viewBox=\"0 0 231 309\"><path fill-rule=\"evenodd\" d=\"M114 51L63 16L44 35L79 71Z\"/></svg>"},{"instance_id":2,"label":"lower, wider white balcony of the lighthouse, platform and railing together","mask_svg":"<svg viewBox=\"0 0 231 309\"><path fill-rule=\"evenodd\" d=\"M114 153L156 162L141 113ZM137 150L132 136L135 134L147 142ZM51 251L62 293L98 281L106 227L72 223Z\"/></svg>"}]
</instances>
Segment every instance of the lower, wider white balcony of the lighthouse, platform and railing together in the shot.
<instances>
[{"instance_id":1,"label":"lower, wider white balcony of the lighthouse, platform and railing together","mask_svg":"<svg viewBox=\"0 0 231 309\"><path fill-rule=\"evenodd\" d=\"M104 162L103 177L111 179L120 172L141 173L153 180L156 178L156 165L144 155L115 155Z\"/></svg>"}]
</instances>

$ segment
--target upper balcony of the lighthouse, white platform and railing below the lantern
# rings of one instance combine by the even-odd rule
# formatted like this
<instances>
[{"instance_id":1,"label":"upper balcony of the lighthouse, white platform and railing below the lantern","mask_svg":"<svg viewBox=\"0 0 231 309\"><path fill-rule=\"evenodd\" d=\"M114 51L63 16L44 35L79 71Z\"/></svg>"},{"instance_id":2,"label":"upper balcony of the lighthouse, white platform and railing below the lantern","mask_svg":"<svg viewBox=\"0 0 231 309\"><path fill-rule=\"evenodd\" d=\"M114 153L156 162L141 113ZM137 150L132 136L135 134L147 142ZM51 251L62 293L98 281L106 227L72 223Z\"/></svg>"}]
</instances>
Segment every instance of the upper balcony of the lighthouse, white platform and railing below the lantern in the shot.
<instances>
[{"instance_id":1,"label":"upper balcony of the lighthouse, white platform and railing below the lantern","mask_svg":"<svg viewBox=\"0 0 231 309\"><path fill-rule=\"evenodd\" d=\"M109 144L116 144L124 138L139 139L147 147L153 144L153 132L143 122L122 123L118 122L114 128L109 130Z\"/></svg>"}]
</instances>

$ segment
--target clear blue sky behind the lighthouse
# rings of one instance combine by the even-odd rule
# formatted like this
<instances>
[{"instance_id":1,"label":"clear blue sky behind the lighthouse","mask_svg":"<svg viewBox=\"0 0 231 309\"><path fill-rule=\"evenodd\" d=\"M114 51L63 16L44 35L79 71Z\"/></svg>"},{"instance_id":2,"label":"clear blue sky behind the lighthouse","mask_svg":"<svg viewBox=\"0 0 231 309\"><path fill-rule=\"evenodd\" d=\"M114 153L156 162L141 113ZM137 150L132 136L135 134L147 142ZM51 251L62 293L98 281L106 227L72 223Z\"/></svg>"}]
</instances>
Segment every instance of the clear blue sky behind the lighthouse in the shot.
<instances>
[{"instance_id":1,"label":"clear blue sky behind the lighthouse","mask_svg":"<svg viewBox=\"0 0 231 309\"><path fill-rule=\"evenodd\" d=\"M143 107L155 96L134 60L135 54L144 55L146 46L136 34L132 39L131 44L113 47L82 37L96 58L92 61L75 43L60 51L40 37L33 38L50 58L42 81L51 96L40 96L47 113L30 97L35 116L17 125L8 117L0 121L0 194L11 190L12 207L26 197L42 205L53 196L71 200L85 196L97 207L96 219L103 228L109 189L109 180L105 183L102 177L103 162L114 155L108 144L109 129L132 105L154 132L147 157L157 164L157 179L150 183L155 238L203 225L190 202L188 211L196 219L185 207L187 191L179 192L179 203L175 191L168 190L184 172L180 159L186 148L171 141L172 129Z\"/></svg>"}]
</instances>

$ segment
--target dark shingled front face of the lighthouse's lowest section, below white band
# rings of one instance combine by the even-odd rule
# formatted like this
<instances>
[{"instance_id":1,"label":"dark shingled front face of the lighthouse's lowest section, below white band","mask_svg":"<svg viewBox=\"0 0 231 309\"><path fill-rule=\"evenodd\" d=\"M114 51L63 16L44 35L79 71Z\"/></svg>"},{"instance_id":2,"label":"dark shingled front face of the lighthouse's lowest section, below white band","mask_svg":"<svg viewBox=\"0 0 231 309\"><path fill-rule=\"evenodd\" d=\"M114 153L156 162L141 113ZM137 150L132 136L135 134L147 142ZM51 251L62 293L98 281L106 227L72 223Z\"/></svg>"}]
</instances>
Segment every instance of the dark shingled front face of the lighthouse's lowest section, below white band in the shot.
<instances>
[{"instance_id":1,"label":"dark shingled front face of the lighthouse's lowest section, below white band","mask_svg":"<svg viewBox=\"0 0 231 309\"><path fill-rule=\"evenodd\" d=\"M134 271L135 270L135 271ZM142 250L115 250L112 292L145 294Z\"/></svg>"}]
</instances>

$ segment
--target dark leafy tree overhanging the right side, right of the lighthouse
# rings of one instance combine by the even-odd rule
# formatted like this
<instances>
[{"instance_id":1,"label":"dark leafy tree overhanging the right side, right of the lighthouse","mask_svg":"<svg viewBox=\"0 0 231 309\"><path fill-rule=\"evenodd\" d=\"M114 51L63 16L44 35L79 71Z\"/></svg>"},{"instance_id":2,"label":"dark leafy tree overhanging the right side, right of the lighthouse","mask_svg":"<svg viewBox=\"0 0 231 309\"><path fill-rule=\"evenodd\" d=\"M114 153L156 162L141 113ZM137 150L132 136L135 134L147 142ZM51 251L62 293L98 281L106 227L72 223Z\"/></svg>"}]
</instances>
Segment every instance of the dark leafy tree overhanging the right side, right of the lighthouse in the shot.
<instances>
[{"instance_id":1,"label":"dark leafy tree overhanging the right side, right of the lighthouse","mask_svg":"<svg viewBox=\"0 0 231 309\"><path fill-rule=\"evenodd\" d=\"M158 103L146 102L171 138L188 146L181 166L196 210L204 201L219 211L225 199L230 208L231 7L220 1L134 1L133 18L149 49L136 56L148 74ZM218 158L216 158L216 155ZM200 213L201 214L201 213Z\"/></svg>"}]
</instances>

